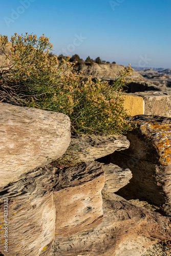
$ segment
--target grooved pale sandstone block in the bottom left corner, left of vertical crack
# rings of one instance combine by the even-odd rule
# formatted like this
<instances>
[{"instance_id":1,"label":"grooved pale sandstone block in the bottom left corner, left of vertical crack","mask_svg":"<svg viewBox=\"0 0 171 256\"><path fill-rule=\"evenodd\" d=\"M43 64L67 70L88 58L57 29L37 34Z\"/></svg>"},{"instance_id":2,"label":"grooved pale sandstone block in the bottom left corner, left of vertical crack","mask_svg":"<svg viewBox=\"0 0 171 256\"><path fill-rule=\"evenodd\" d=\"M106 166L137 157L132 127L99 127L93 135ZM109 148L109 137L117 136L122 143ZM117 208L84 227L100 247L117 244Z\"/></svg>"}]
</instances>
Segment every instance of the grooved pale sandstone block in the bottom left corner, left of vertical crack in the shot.
<instances>
[{"instance_id":1,"label":"grooved pale sandstone block in the bottom left corner, left of vertical crack","mask_svg":"<svg viewBox=\"0 0 171 256\"><path fill-rule=\"evenodd\" d=\"M5 256L40 255L41 252L48 255L54 240L56 218L52 177L51 170L36 169L0 189L0 251ZM8 198L8 252L4 252L3 244L5 197Z\"/></svg>"}]
</instances>

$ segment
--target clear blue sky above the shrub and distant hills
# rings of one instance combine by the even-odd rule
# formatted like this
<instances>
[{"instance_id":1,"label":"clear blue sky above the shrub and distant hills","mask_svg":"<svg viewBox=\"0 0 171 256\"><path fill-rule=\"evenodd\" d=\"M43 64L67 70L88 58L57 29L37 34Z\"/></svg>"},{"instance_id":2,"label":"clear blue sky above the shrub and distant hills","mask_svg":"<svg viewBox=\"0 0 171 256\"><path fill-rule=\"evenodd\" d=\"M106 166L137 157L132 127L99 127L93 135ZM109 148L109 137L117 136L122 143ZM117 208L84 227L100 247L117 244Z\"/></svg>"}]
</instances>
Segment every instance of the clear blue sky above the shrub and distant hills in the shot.
<instances>
[{"instance_id":1,"label":"clear blue sky above the shrub and distant hills","mask_svg":"<svg viewBox=\"0 0 171 256\"><path fill-rule=\"evenodd\" d=\"M0 34L44 33L57 55L171 68L170 11L170 0L6 0Z\"/></svg>"}]
</instances>

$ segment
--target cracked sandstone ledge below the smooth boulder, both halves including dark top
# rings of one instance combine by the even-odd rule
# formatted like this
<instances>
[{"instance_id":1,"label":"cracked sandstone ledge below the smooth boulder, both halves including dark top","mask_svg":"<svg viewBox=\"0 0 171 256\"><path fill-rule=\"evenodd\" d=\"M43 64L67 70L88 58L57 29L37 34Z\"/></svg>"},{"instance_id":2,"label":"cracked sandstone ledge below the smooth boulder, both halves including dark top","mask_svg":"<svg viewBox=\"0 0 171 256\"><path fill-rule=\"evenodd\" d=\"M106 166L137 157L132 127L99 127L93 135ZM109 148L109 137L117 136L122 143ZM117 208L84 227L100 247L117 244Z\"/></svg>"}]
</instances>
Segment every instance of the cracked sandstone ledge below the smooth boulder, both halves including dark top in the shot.
<instances>
[{"instance_id":1,"label":"cracked sandstone ledge below the smooth boulder, both halves including dark top","mask_svg":"<svg viewBox=\"0 0 171 256\"><path fill-rule=\"evenodd\" d=\"M5 256L47 256L55 233L66 237L102 222L101 163L82 163L64 169L45 166L20 178L0 189L0 252L3 254L4 197L8 197L9 245Z\"/></svg>"}]
</instances>

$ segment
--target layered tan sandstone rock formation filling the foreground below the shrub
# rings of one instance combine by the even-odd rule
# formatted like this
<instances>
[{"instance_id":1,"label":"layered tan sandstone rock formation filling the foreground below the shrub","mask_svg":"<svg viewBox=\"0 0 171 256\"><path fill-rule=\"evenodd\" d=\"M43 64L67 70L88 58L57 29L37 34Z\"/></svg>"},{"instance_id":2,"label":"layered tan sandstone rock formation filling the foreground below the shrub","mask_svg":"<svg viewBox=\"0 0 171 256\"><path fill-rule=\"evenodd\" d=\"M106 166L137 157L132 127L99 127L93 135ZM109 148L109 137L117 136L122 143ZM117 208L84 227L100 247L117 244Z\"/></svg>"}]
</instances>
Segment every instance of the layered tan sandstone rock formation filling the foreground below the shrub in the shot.
<instances>
[{"instance_id":1,"label":"layered tan sandstone rock formation filling the foreground below the shrub","mask_svg":"<svg viewBox=\"0 0 171 256\"><path fill-rule=\"evenodd\" d=\"M6 147L4 144L2 147L6 154L1 152L0 156L4 154L4 168L7 174L10 170L11 176L3 176L3 170L0 173L2 180L6 178L0 187L0 254L140 256L146 247L171 240L168 217L151 211L153 207L146 209L114 194L130 186L129 180L135 179L135 171L133 169L132 178L126 165L119 167L110 163L111 156L116 154L120 165L126 159L123 153L130 150L130 168L132 162L138 163L140 170L146 164L141 174L135 175L141 181L141 194L144 193L147 200L148 195L158 200L168 214L169 118L131 119L137 128L127 137L131 138L130 148L130 142L121 135L72 138L70 147L75 148L73 154L81 163L57 168L49 162L61 156L69 145L69 118L60 113L9 104L2 104L3 109L0 131L4 131L2 140ZM15 167L18 173L14 172ZM146 175L149 187L145 186ZM140 198L137 187L135 183L127 191L129 195L138 191L136 196ZM4 198L8 198L7 223ZM5 225L8 226L8 253L4 253Z\"/></svg>"}]
</instances>

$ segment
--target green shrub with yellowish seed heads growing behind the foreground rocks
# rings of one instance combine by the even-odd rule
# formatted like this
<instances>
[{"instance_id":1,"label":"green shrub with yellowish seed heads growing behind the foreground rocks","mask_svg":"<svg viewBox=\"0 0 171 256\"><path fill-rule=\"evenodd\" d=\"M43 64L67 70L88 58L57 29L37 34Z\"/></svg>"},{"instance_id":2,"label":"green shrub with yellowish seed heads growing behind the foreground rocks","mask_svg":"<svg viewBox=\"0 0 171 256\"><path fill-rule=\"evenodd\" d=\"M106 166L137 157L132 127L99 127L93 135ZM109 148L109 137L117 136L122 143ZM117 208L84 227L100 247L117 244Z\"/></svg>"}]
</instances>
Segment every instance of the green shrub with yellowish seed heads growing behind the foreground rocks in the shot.
<instances>
[{"instance_id":1,"label":"green shrub with yellowish seed heads growing behind the foreground rocks","mask_svg":"<svg viewBox=\"0 0 171 256\"><path fill-rule=\"evenodd\" d=\"M71 72L69 56L60 64L55 55L48 58L52 45L44 34L37 38L15 33L11 42L7 54L8 38L0 36L0 50L6 56L0 70L1 101L64 113L71 119L72 131L78 133L119 134L131 129L121 97L121 87L129 82L125 76L130 74L130 66L111 85L91 77L84 80L81 72Z\"/></svg>"}]
</instances>

